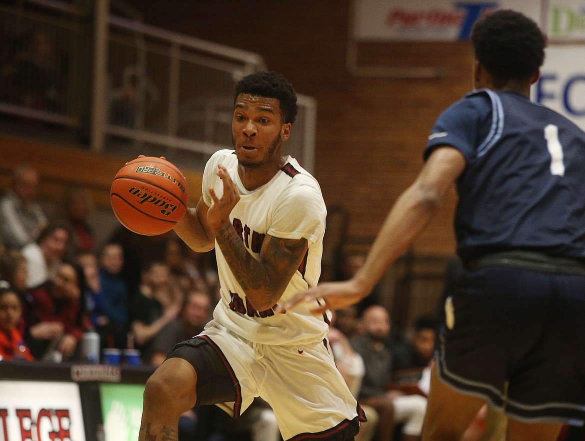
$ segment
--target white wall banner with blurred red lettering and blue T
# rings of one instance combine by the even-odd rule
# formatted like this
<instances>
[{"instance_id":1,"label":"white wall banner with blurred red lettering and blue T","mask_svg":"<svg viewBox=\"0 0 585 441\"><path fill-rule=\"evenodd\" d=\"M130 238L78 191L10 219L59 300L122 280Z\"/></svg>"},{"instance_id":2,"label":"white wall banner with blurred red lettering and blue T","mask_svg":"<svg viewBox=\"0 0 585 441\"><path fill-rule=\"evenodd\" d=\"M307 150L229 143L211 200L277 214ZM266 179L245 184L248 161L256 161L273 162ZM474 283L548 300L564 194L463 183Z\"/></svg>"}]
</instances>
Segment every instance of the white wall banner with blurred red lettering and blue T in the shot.
<instances>
[{"instance_id":1,"label":"white wall banner with blurred red lettering and blue T","mask_svg":"<svg viewBox=\"0 0 585 441\"><path fill-rule=\"evenodd\" d=\"M495 9L541 23L541 1L355 0L354 35L362 41L467 40L473 23Z\"/></svg>"}]
</instances>

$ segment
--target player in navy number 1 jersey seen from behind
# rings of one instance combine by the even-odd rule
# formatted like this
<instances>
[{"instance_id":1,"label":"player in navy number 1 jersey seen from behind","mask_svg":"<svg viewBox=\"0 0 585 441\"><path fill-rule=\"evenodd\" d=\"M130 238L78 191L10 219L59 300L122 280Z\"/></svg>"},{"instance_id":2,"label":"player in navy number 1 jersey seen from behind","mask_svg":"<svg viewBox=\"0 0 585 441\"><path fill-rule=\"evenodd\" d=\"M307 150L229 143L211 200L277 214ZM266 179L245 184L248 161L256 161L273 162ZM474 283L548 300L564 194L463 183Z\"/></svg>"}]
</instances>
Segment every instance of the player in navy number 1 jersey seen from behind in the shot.
<instances>
[{"instance_id":1,"label":"player in navy number 1 jersey seen from behind","mask_svg":"<svg viewBox=\"0 0 585 441\"><path fill-rule=\"evenodd\" d=\"M466 272L446 302L423 439L458 440L487 401L510 418L508 440L555 440L585 416L585 133L529 100L546 44L536 23L497 11L471 38L477 89L439 116L366 264L281 306L359 301L456 184Z\"/></svg>"}]
</instances>

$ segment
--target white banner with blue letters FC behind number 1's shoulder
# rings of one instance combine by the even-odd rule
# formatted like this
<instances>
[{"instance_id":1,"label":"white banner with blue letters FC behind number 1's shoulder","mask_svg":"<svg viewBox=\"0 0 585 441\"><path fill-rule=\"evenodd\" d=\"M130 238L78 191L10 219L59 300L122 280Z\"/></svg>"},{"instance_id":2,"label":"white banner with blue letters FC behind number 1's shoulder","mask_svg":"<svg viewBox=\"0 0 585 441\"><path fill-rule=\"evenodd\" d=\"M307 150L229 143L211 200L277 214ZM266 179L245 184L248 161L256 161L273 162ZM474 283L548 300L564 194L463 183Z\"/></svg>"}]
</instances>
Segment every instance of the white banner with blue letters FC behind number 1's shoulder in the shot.
<instances>
[{"instance_id":1,"label":"white banner with blue letters FC behind number 1's shoulder","mask_svg":"<svg viewBox=\"0 0 585 441\"><path fill-rule=\"evenodd\" d=\"M565 115L585 130L585 46L549 46L533 101Z\"/></svg>"}]
</instances>

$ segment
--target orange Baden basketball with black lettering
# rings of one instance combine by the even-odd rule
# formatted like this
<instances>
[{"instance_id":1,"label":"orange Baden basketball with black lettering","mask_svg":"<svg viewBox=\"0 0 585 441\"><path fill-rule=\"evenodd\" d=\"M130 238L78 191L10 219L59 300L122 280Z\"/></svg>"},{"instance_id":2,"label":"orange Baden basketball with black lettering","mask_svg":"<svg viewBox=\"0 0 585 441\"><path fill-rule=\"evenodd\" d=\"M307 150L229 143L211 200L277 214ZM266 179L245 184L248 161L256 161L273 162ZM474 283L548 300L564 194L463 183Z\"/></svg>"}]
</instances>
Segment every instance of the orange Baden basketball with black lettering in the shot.
<instances>
[{"instance_id":1,"label":"orange Baden basketball with black lettering","mask_svg":"<svg viewBox=\"0 0 585 441\"><path fill-rule=\"evenodd\" d=\"M183 173L166 159L137 158L113 178L113 212L128 230L145 236L170 231L187 211L189 192Z\"/></svg>"}]
</instances>

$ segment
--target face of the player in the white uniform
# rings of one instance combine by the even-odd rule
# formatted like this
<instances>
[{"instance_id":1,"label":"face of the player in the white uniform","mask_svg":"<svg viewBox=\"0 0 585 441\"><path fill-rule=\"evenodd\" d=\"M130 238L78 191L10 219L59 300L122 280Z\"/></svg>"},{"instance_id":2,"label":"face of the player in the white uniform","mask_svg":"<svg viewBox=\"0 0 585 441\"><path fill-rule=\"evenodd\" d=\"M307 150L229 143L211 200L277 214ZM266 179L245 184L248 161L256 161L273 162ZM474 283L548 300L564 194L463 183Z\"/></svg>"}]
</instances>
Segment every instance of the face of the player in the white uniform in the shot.
<instances>
[{"instance_id":1,"label":"face of the player in the white uniform","mask_svg":"<svg viewBox=\"0 0 585 441\"><path fill-rule=\"evenodd\" d=\"M241 165L280 163L280 146L291 127L282 120L278 99L240 93L233 110L232 141Z\"/></svg>"}]
</instances>

